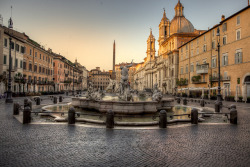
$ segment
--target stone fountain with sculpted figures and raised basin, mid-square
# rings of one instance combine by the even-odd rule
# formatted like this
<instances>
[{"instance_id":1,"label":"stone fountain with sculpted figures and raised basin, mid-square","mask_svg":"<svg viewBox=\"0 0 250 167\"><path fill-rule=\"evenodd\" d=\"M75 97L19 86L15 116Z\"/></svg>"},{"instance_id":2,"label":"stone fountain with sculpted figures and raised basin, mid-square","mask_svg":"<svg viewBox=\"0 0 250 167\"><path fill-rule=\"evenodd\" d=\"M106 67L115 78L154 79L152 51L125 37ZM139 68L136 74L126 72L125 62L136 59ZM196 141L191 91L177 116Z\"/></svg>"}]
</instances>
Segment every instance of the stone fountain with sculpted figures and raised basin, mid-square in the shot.
<instances>
[{"instance_id":1,"label":"stone fountain with sculpted figures and raised basin, mid-square","mask_svg":"<svg viewBox=\"0 0 250 167\"><path fill-rule=\"evenodd\" d=\"M104 94L101 90L94 92L92 83L89 83L86 98L72 98L72 105L83 109L94 109L100 112L112 110L119 114L142 114L156 113L159 110L170 110L174 99L162 98L158 84L154 85L153 94L150 98L143 98L133 93L128 82L128 70L132 63L121 67L121 81L119 84L112 80Z\"/></svg>"}]
</instances>

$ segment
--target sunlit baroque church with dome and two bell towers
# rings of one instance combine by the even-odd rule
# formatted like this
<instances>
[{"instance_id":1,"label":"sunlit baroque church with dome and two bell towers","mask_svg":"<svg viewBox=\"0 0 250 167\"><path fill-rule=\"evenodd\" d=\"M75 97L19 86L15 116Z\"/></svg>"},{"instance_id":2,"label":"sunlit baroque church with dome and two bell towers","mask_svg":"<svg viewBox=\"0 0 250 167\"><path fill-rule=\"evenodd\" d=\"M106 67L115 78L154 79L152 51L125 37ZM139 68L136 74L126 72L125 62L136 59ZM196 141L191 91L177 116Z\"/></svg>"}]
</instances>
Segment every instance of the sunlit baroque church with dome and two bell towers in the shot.
<instances>
[{"instance_id":1,"label":"sunlit baroque church with dome and two bell towers","mask_svg":"<svg viewBox=\"0 0 250 167\"><path fill-rule=\"evenodd\" d=\"M204 31L195 30L184 16L184 7L178 1L175 16L170 21L164 9L159 24L159 50L156 55L155 37L152 30L147 40L147 57L136 66L134 80L137 90L152 89L155 83L163 93L175 94L178 79L178 48Z\"/></svg>"}]
</instances>

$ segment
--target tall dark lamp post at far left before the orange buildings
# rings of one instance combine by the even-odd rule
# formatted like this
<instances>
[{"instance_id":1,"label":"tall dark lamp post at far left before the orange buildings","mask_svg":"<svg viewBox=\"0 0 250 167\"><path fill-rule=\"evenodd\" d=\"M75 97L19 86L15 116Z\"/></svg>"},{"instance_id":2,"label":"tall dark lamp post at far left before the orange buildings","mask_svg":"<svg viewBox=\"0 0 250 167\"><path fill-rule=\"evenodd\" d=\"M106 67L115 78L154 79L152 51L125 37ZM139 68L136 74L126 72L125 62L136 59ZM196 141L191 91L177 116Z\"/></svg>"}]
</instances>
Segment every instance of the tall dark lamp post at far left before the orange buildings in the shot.
<instances>
[{"instance_id":1,"label":"tall dark lamp post at far left before the orange buildings","mask_svg":"<svg viewBox=\"0 0 250 167\"><path fill-rule=\"evenodd\" d=\"M13 22L12 22L12 19L10 18L9 19L9 26L8 26L9 29L13 29ZM12 70L12 61L11 61L11 31L10 31L10 37L9 37L9 40L10 40L10 44L9 44L9 80L8 80L8 90L7 90L7 98L5 100L6 103L13 103L13 99L12 99L12 91L11 91L11 70Z\"/></svg>"}]
</instances>

